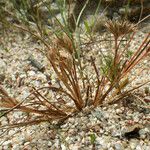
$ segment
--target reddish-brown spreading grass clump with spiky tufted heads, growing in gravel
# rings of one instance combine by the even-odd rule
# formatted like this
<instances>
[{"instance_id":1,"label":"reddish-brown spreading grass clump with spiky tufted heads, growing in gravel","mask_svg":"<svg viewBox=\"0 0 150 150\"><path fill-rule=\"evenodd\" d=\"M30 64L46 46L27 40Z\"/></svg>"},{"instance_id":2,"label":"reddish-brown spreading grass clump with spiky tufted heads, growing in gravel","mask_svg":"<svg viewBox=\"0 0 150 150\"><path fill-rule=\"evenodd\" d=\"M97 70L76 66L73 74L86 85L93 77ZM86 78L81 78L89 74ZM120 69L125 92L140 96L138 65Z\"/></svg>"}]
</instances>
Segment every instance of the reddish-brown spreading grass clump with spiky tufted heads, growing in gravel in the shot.
<instances>
[{"instance_id":1,"label":"reddish-brown spreading grass clump with spiky tufted heads, growing in gravel","mask_svg":"<svg viewBox=\"0 0 150 150\"><path fill-rule=\"evenodd\" d=\"M60 22L58 21L58 23ZM30 33L45 45L43 53L58 78L60 86L57 87L51 84L39 89L33 88L26 99L17 100L10 97L0 85L0 107L8 109L4 111L1 117L11 111L35 114L35 117L29 117L28 121L16 122L10 124L10 126L64 120L71 117L72 114L82 111L87 106L94 108L121 100L145 84L143 83L132 89L125 89L131 83L129 80L131 70L150 54L150 34L148 33L139 48L135 49L130 57L127 57L129 45L136 32L135 25L127 21L108 21L106 23L106 29L113 35L114 43L111 52L104 54L99 49L101 55L99 58L101 61L100 66L96 64L96 58L93 56L85 64L83 63L84 52L81 50L81 45L74 34L67 30L66 24L60 23L61 31L55 30L53 32L53 30L49 30L44 36L42 33L45 33L43 32L45 26L44 28L42 26L38 27L37 24L36 31L33 31L29 28L30 26L25 25L22 22L21 24L14 23L13 27ZM126 39L126 36L128 36L128 41L125 46L122 46L123 39ZM86 72L87 67L92 70L91 72L96 78L89 76ZM41 93L43 89L49 89L49 91L59 95L59 99L63 101L63 104L59 102L57 97L55 97L55 102L47 99ZM30 99L31 96L34 96L33 100ZM73 102L71 106L70 102ZM93 138L91 137L91 140Z\"/></svg>"}]
</instances>

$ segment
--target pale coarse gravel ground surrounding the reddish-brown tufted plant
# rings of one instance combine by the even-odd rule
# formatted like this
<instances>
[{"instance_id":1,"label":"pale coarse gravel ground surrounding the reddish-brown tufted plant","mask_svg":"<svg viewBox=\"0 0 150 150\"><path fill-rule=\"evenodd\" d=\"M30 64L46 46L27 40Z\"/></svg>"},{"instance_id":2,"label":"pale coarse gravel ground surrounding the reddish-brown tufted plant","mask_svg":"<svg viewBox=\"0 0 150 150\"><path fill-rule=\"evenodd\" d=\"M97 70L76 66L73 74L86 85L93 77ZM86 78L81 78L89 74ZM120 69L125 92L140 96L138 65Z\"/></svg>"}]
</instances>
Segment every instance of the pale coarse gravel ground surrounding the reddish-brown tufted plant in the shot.
<instances>
[{"instance_id":1,"label":"pale coarse gravel ground surrounding the reddish-brown tufted plant","mask_svg":"<svg viewBox=\"0 0 150 150\"><path fill-rule=\"evenodd\" d=\"M138 40L142 40L146 31L139 31ZM46 86L47 74L52 74L45 57L37 49L29 35L9 33L4 46L0 47L0 83L10 95L24 99L30 93L30 87ZM2 40L1 40L2 41ZM7 42L6 42L7 41ZM3 44L4 44L3 43ZM137 41L133 46L137 46ZM7 50L7 52L5 50ZM90 51L87 52L90 55ZM47 69L44 73L30 64L33 54ZM94 54L96 55L96 54ZM149 60L143 62L149 66ZM140 64L137 70L143 66ZM133 72L133 75L136 73ZM145 70L131 86L146 81L150 71ZM55 82L55 81L52 81ZM146 87L148 87L147 85ZM139 92L144 93L144 88ZM143 94L150 100L149 95ZM2 150L149 150L150 115L149 108L137 107L134 97L125 100L124 105L117 103L96 109L85 108L69 118L63 125L41 123L27 127L0 130L0 149ZM135 104L135 105L134 105ZM149 102L147 102L149 106ZM12 119L22 117L23 113L10 113L0 119L0 125L10 123Z\"/></svg>"}]
</instances>

